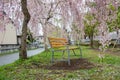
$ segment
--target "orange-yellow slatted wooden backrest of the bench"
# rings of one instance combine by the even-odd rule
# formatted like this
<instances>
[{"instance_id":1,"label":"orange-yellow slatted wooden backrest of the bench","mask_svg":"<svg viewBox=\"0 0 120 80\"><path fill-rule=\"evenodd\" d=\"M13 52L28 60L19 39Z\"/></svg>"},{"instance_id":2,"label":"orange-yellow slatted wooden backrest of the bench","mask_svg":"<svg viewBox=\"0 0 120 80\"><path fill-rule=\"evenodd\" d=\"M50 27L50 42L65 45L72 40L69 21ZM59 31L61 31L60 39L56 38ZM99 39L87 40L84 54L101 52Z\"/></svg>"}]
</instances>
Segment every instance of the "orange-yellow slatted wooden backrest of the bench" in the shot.
<instances>
[{"instance_id":1,"label":"orange-yellow slatted wooden backrest of the bench","mask_svg":"<svg viewBox=\"0 0 120 80\"><path fill-rule=\"evenodd\" d=\"M48 38L50 46L52 48L62 47L68 44L68 41L65 38Z\"/></svg>"}]
</instances>

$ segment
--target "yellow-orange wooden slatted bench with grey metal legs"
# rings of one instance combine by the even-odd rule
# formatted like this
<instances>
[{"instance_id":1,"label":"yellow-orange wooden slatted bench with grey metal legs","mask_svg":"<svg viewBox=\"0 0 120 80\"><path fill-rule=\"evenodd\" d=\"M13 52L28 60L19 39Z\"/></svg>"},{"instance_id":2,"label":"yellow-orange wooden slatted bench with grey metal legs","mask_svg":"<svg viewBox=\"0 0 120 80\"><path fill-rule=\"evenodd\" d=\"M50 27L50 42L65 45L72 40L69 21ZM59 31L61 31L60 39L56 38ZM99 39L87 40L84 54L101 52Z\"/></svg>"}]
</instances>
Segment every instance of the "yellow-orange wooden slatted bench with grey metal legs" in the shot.
<instances>
[{"instance_id":1,"label":"yellow-orange wooden slatted bench with grey metal legs","mask_svg":"<svg viewBox=\"0 0 120 80\"><path fill-rule=\"evenodd\" d=\"M63 60L63 61L68 61L68 65L70 65L70 50L73 51L74 55L76 55L75 53L75 49L79 49L80 50L80 58L82 58L82 51L80 46L70 46L68 44L68 41L65 38L52 38L49 37L48 38L50 46L51 46L51 52L52 52L52 57L51 57L51 61L55 62L56 60L54 59L54 52L55 51L62 51L63 55L65 53L65 51L67 52L67 60ZM63 56L62 55L62 56Z\"/></svg>"}]
</instances>

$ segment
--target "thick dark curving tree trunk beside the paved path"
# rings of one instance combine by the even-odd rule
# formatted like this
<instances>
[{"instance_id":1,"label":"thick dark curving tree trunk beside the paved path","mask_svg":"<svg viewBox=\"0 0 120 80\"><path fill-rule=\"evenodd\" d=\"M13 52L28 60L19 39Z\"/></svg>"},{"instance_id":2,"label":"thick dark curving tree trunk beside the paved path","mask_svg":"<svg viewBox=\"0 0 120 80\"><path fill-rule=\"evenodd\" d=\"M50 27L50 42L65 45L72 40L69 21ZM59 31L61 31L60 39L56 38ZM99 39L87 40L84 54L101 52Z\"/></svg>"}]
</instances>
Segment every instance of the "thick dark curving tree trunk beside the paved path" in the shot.
<instances>
[{"instance_id":1,"label":"thick dark curving tree trunk beside the paved path","mask_svg":"<svg viewBox=\"0 0 120 80\"><path fill-rule=\"evenodd\" d=\"M22 37L20 45L20 59L27 59L27 50L26 50L26 37L27 37L27 24L30 20L30 14L27 9L27 0L21 0L22 12L24 15L23 25L22 25Z\"/></svg>"}]
</instances>

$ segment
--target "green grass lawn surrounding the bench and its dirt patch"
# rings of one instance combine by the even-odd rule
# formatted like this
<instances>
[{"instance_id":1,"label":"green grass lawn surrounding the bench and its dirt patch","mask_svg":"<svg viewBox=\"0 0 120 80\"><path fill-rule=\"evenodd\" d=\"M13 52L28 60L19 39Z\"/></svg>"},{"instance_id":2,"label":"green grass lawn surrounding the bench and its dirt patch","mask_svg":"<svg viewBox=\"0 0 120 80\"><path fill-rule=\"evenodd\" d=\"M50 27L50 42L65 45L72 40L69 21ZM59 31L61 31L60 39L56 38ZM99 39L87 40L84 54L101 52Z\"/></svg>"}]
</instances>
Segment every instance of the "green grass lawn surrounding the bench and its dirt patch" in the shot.
<instances>
[{"instance_id":1,"label":"green grass lawn surrounding the bench and its dirt patch","mask_svg":"<svg viewBox=\"0 0 120 80\"><path fill-rule=\"evenodd\" d=\"M83 57L88 58L96 67L80 70L44 69L44 65L51 65L51 54L42 52L27 60L17 60L15 63L1 66L0 80L120 80L120 56L105 53L103 62L99 62L99 51L83 46L82 52ZM71 57L79 56L74 57L71 54ZM57 58L60 58L60 55Z\"/></svg>"}]
</instances>

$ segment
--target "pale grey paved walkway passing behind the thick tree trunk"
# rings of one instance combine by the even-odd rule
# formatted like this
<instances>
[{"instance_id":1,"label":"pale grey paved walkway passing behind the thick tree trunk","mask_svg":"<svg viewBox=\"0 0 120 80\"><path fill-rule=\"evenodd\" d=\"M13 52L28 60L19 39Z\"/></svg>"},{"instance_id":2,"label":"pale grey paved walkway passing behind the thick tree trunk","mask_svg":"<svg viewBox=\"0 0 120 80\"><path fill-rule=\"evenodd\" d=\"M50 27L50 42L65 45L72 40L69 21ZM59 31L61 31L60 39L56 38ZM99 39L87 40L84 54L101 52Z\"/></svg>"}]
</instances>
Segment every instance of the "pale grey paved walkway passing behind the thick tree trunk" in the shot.
<instances>
[{"instance_id":1,"label":"pale grey paved walkway passing behind the thick tree trunk","mask_svg":"<svg viewBox=\"0 0 120 80\"><path fill-rule=\"evenodd\" d=\"M36 55L42 51L44 51L43 48L29 50L29 51L27 51L27 55L28 55L28 57L30 57L30 56ZM9 64L9 63L13 63L17 59L19 59L19 53L13 53L13 54L0 56L0 66Z\"/></svg>"}]
</instances>

